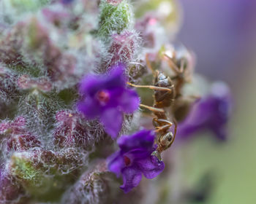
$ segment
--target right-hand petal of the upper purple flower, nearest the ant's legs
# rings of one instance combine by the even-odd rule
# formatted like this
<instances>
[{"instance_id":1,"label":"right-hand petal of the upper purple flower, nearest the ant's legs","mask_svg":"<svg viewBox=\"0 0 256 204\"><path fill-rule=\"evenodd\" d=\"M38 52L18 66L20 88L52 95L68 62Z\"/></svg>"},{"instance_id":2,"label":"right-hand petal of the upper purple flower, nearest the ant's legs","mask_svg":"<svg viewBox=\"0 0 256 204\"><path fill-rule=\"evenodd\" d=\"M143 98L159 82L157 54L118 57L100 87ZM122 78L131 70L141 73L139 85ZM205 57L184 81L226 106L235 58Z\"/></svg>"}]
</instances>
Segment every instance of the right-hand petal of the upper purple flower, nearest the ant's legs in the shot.
<instances>
[{"instance_id":1,"label":"right-hand petal of the upper purple flower, nearest the ant's legs","mask_svg":"<svg viewBox=\"0 0 256 204\"><path fill-rule=\"evenodd\" d=\"M135 90L125 90L120 99L120 106L122 110L131 114L133 111L138 109L140 105L140 98Z\"/></svg>"}]
</instances>

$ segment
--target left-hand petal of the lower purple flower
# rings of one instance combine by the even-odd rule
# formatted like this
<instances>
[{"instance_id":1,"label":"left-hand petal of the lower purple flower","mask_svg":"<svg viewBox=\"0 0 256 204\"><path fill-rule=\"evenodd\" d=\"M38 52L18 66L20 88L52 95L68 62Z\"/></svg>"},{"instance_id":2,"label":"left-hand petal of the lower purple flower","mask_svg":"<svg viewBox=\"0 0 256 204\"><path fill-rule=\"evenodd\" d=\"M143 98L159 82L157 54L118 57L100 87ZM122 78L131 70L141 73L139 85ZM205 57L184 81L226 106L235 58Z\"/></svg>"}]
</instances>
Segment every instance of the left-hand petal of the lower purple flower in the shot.
<instances>
[{"instance_id":1,"label":"left-hand petal of the lower purple flower","mask_svg":"<svg viewBox=\"0 0 256 204\"><path fill-rule=\"evenodd\" d=\"M124 158L120 152L115 152L114 154L108 157L108 169L113 173L116 173L116 176L119 177L121 174L121 169L125 167Z\"/></svg>"}]
</instances>

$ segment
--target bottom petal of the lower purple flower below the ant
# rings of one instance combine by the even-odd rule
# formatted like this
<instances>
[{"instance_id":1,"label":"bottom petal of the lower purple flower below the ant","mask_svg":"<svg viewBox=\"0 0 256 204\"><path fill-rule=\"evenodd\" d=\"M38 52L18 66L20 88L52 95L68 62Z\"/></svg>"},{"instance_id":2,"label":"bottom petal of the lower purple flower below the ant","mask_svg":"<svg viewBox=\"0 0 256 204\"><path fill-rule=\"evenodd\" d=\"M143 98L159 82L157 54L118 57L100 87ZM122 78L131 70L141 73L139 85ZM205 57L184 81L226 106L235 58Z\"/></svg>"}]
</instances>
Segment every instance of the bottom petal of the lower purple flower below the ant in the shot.
<instances>
[{"instance_id":1,"label":"bottom petal of the lower purple flower below the ant","mask_svg":"<svg viewBox=\"0 0 256 204\"><path fill-rule=\"evenodd\" d=\"M142 173L135 166L127 167L122 170L124 184L121 185L121 189L125 193L129 192L134 187L137 187L140 184Z\"/></svg>"}]
</instances>

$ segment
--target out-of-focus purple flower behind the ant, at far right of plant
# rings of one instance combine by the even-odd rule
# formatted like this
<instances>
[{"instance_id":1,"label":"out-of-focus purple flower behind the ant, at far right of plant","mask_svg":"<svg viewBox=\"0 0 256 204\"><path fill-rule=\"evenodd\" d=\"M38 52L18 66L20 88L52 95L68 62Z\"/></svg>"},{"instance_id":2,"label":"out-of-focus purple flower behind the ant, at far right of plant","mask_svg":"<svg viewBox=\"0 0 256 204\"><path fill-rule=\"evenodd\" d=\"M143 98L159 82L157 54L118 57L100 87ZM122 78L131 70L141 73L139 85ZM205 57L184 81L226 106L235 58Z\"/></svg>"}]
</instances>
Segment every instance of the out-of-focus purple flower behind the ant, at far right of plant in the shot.
<instances>
[{"instance_id":1,"label":"out-of-focus purple flower behind the ant, at far right of plant","mask_svg":"<svg viewBox=\"0 0 256 204\"><path fill-rule=\"evenodd\" d=\"M196 101L187 118L178 125L178 137L188 138L198 130L208 129L221 141L225 140L231 102L227 85L223 82L215 82L211 87L211 93Z\"/></svg>"}]
</instances>

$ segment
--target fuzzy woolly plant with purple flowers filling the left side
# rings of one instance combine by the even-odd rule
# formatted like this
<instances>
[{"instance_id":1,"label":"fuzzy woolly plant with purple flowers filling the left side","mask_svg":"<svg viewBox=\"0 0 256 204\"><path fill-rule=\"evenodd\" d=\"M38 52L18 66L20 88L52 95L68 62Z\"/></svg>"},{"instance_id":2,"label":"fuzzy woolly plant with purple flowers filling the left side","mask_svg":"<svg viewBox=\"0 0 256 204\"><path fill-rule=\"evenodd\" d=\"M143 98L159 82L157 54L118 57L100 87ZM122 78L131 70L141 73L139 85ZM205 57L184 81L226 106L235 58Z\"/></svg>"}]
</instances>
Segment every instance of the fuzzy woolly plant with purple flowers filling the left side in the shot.
<instances>
[{"instance_id":1,"label":"fuzzy woolly plant with purple flowers filling the left side","mask_svg":"<svg viewBox=\"0 0 256 204\"><path fill-rule=\"evenodd\" d=\"M0 203L139 203L149 185L142 176L169 165L156 154L174 139L163 130L175 137L178 124L181 140L203 128L226 138L230 91L222 82L197 88L192 52L170 42L175 5L0 2ZM160 7L167 12L152 12ZM150 125L143 107L165 113L171 128Z\"/></svg>"}]
</instances>

